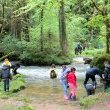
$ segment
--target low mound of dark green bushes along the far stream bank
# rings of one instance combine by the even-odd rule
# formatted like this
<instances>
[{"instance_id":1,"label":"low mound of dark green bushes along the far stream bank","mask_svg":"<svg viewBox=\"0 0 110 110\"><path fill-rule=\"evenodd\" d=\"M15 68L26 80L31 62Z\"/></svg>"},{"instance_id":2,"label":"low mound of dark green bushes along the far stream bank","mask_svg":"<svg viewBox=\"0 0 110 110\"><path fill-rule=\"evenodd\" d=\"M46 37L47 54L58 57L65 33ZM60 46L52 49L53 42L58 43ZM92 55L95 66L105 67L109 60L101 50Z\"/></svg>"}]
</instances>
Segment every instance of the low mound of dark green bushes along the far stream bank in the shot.
<instances>
[{"instance_id":1,"label":"low mound of dark green bushes along the far stream bank","mask_svg":"<svg viewBox=\"0 0 110 110\"><path fill-rule=\"evenodd\" d=\"M69 64L72 61L72 55L62 56L58 55L58 53L47 53L46 51L39 52L38 54L33 55L32 57L25 57L22 60L25 65L51 65L52 63L62 65Z\"/></svg>"}]
</instances>

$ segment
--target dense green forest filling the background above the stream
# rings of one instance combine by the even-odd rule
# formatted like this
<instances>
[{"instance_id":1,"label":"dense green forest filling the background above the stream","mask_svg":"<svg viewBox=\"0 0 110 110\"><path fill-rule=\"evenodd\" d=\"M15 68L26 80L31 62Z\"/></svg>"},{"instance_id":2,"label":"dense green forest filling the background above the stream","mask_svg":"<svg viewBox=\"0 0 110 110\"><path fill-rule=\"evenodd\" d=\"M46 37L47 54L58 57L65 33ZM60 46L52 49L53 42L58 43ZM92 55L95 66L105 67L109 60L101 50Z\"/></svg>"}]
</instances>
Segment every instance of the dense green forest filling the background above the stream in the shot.
<instances>
[{"instance_id":1,"label":"dense green forest filling the background above the stream","mask_svg":"<svg viewBox=\"0 0 110 110\"><path fill-rule=\"evenodd\" d=\"M110 0L0 0L0 56L68 64L78 42L110 53Z\"/></svg>"}]
</instances>

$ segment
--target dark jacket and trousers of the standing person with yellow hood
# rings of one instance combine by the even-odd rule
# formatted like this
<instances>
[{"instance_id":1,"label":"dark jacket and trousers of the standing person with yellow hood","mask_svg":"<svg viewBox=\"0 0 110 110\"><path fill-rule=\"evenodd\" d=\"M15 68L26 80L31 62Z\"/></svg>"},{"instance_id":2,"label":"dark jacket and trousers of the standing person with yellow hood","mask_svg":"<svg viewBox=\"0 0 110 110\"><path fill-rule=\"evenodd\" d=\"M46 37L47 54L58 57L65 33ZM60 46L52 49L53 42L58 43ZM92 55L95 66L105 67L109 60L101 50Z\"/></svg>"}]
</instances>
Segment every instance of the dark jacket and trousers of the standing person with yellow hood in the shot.
<instances>
[{"instance_id":1,"label":"dark jacket and trousers of the standing person with yellow hood","mask_svg":"<svg viewBox=\"0 0 110 110\"><path fill-rule=\"evenodd\" d=\"M12 79L11 73L10 73L10 66L4 65L2 67L2 72L0 74L1 79L4 81L4 91L9 91L9 83Z\"/></svg>"}]
</instances>

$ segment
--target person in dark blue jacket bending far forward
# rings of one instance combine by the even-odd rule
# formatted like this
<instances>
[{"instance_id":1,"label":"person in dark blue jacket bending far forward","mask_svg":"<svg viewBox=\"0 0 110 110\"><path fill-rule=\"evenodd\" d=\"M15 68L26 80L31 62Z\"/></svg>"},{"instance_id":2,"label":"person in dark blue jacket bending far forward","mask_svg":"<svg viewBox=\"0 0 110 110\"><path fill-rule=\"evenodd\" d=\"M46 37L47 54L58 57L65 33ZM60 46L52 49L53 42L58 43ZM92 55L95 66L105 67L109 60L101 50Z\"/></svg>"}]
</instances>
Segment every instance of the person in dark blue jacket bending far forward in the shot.
<instances>
[{"instance_id":1,"label":"person in dark blue jacket bending far forward","mask_svg":"<svg viewBox=\"0 0 110 110\"><path fill-rule=\"evenodd\" d=\"M102 74L101 74L101 71L99 70L99 68L97 68L97 67L91 67L90 69L88 69L86 71L84 86L86 86L88 80L91 79L94 88L96 88L95 75L99 75L103 79Z\"/></svg>"}]
</instances>

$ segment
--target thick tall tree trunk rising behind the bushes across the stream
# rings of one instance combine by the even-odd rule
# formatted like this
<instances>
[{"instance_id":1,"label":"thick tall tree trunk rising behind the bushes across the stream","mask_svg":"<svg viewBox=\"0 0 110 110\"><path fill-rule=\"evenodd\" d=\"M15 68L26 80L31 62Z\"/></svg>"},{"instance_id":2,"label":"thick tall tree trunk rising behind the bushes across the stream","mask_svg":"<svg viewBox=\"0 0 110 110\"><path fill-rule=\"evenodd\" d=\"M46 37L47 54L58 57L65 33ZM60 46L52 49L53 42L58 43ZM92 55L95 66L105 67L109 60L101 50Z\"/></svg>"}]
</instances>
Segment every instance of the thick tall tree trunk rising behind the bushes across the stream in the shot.
<instances>
[{"instance_id":1,"label":"thick tall tree trunk rising behind the bushes across the stream","mask_svg":"<svg viewBox=\"0 0 110 110\"><path fill-rule=\"evenodd\" d=\"M67 38L66 38L66 23L65 23L65 11L64 11L64 1L62 0L59 10L59 37L60 46L62 49L62 54L66 55L68 51Z\"/></svg>"}]
</instances>

